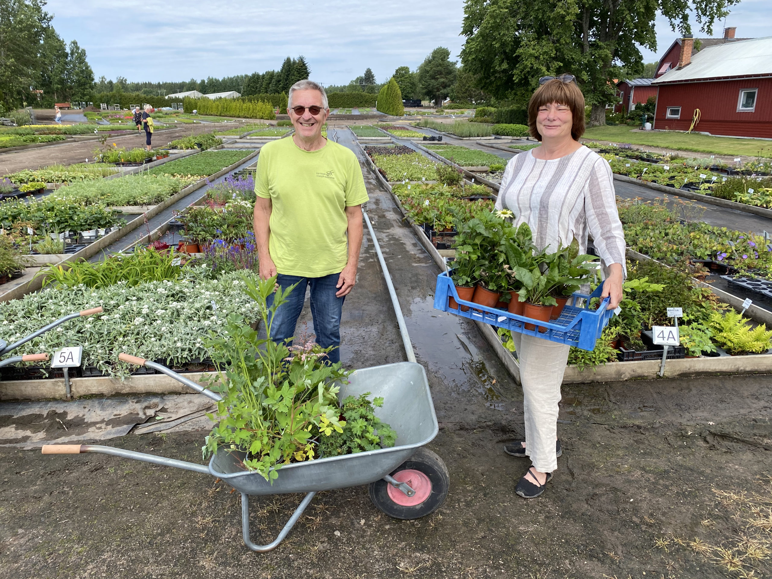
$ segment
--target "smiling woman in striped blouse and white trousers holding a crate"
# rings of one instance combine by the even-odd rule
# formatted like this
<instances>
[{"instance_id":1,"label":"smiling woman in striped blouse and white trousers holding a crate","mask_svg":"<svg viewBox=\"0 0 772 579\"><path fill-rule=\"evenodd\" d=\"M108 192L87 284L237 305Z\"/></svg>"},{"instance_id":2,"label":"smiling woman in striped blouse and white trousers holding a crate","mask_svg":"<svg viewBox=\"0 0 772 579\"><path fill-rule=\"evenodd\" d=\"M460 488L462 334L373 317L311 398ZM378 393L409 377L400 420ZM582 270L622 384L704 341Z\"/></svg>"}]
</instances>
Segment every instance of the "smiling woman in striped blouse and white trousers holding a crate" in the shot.
<instances>
[{"instance_id":1,"label":"smiling woman in striped blouse and white trousers holding a crate","mask_svg":"<svg viewBox=\"0 0 772 579\"><path fill-rule=\"evenodd\" d=\"M622 299L625 237L611 168L579 142L584 95L574 76L540 79L528 103L528 126L541 145L507 163L496 208L510 209L515 225L527 223L539 249L557 250L576 239L580 253L586 253L587 236L592 235L605 275L602 295L610 297L608 307L614 309ZM526 439L504 449L531 459L515 490L532 499L544 492L563 452L557 440L557 412L569 346L514 333L513 340L520 361Z\"/></svg>"}]
</instances>

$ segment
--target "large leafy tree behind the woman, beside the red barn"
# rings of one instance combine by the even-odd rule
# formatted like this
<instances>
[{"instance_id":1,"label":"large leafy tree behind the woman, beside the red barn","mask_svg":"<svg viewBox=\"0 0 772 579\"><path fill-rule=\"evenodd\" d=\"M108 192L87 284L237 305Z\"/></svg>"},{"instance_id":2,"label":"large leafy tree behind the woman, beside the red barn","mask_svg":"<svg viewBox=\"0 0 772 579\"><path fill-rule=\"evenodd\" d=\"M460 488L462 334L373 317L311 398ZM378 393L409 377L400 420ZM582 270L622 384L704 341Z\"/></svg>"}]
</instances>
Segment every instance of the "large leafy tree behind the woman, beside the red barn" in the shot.
<instances>
[{"instance_id":1,"label":"large leafy tree behind the woman, beside the red barn","mask_svg":"<svg viewBox=\"0 0 772 579\"><path fill-rule=\"evenodd\" d=\"M623 69L643 72L640 47L657 49L656 15L682 34L713 23L740 0L546 0L533 8L520 0L466 0L462 63L479 87L521 105L540 76L573 73L587 103L591 125L605 123L605 108L615 100L612 82Z\"/></svg>"}]
</instances>

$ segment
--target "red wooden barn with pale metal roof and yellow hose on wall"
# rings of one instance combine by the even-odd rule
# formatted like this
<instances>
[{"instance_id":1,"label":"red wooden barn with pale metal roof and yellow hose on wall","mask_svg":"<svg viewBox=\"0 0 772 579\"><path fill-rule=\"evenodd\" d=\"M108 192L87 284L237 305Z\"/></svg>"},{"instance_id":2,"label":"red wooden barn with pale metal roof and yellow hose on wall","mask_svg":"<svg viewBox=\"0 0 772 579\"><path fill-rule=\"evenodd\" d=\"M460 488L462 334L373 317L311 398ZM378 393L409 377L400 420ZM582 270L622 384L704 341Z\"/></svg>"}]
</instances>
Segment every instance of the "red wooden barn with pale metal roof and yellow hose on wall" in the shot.
<instances>
[{"instance_id":1,"label":"red wooden barn with pale metal roof and yellow hose on wall","mask_svg":"<svg viewBox=\"0 0 772 579\"><path fill-rule=\"evenodd\" d=\"M733 35L733 29L727 29ZM726 37L726 33L725 33ZM692 54L691 36L659 63L654 128L772 138L772 37L723 41Z\"/></svg>"}]
</instances>

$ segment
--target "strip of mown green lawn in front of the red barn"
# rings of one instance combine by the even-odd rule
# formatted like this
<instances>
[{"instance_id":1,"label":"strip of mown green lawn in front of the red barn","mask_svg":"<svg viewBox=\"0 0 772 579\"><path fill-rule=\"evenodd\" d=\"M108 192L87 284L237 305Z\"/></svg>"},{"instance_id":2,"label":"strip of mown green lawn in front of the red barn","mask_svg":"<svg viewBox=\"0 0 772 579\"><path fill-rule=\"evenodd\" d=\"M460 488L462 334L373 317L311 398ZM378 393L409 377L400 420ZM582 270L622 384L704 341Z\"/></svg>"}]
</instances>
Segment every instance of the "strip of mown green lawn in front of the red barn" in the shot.
<instances>
[{"instance_id":1,"label":"strip of mown green lawn in front of the red barn","mask_svg":"<svg viewBox=\"0 0 772 579\"><path fill-rule=\"evenodd\" d=\"M720 155L746 155L748 157L772 157L772 141L710 137L705 134L662 133L659 131L632 132L631 127L591 127L584 131L584 139L611 141L662 147L678 151L712 153ZM760 151L760 152L759 152Z\"/></svg>"}]
</instances>

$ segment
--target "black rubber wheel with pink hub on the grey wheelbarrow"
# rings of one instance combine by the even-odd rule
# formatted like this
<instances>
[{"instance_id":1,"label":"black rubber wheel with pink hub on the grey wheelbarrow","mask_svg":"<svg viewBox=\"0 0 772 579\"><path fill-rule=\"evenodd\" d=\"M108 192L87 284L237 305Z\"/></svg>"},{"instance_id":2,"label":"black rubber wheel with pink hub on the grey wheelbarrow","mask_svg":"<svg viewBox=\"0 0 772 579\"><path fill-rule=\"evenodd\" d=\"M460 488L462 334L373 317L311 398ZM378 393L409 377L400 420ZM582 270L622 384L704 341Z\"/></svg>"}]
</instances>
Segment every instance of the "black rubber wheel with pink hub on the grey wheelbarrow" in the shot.
<instances>
[{"instance_id":1,"label":"black rubber wheel with pink hub on the grey wheelbarrow","mask_svg":"<svg viewBox=\"0 0 772 579\"><path fill-rule=\"evenodd\" d=\"M448 468L431 450L418 449L390 474L398 482L407 482L415 490L414 496L407 496L384 479L370 483L370 500L394 519L419 519L434 513L448 496Z\"/></svg>"}]
</instances>

